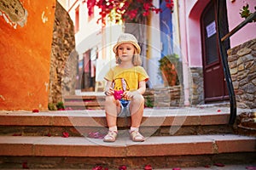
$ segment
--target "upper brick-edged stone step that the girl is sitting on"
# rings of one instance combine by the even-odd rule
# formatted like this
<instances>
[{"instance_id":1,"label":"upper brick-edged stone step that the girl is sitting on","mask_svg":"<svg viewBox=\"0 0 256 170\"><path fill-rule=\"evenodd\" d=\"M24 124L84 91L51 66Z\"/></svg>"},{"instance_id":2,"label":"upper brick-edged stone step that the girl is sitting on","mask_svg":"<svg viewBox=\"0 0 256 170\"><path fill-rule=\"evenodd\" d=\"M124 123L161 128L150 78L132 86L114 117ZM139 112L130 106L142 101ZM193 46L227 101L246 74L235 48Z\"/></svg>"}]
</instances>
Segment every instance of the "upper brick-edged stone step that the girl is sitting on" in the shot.
<instances>
[{"instance_id":1,"label":"upper brick-edged stone step that the girl is sitting on","mask_svg":"<svg viewBox=\"0 0 256 170\"><path fill-rule=\"evenodd\" d=\"M228 108L145 109L140 127L145 136L234 133L228 125ZM119 130L131 126L131 118L118 118ZM108 132L105 112L98 111L1 111L0 135L87 136Z\"/></svg>"}]
</instances>

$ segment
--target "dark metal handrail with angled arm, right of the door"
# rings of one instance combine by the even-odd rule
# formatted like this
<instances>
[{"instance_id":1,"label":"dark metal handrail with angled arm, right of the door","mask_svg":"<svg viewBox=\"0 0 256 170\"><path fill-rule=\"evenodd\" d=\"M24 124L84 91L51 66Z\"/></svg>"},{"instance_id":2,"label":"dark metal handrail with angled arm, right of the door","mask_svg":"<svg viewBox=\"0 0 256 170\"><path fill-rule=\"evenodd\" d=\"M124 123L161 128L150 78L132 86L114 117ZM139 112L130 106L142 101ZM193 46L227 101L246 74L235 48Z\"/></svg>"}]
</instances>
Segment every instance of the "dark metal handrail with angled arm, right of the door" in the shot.
<instances>
[{"instance_id":1,"label":"dark metal handrail with angled arm, right of the door","mask_svg":"<svg viewBox=\"0 0 256 170\"><path fill-rule=\"evenodd\" d=\"M236 122L236 94L234 91L234 87L233 87L233 83L232 83L232 79L231 79L231 75L230 75L230 67L228 65L228 56L227 56L227 52L226 49L224 47L224 42L231 37L232 35L234 35L237 31L239 31L243 26L246 26L248 22L251 22L253 20L255 20L256 17L256 12L254 12L253 14L251 14L250 16L247 17L246 20L242 21L241 24L239 24L238 26L236 26L236 28L234 28L232 31L230 31L228 34L224 35L223 29L223 25L221 23L222 20L219 20L219 16L223 16L223 3L220 3L221 0L217 1L217 30L218 30L218 43L220 45L219 48L219 52L221 55L221 60L222 60L222 64L223 64L223 68L224 68L224 77L227 83L227 88L229 90L229 96L230 96L230 121L229 124L233 125ZM220 10L222 9L222 10Z\"/></svg>"}]
</instances>

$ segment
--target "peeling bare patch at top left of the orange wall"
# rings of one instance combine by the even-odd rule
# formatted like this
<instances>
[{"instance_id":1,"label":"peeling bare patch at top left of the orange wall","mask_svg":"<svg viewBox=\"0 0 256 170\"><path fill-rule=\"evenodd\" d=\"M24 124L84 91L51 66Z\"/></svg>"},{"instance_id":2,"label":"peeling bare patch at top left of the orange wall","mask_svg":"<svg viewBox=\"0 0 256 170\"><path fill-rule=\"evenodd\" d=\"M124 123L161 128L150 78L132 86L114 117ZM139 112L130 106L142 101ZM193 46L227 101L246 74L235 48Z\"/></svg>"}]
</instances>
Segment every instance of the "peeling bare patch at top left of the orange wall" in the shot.
<instances>
[{"instance_id":1,"label":"peeling bare patch at top left of the orange wall","mask_svg":"<svg viewBox=\"0 0 256 170\"><path fill-rule=\"evenodd\" d=\"M26 8L23 7L19 0L0 1L0 16L15 29L17 25L21 27L26 25L27 15Z\"/></svg>"}]
</instances>

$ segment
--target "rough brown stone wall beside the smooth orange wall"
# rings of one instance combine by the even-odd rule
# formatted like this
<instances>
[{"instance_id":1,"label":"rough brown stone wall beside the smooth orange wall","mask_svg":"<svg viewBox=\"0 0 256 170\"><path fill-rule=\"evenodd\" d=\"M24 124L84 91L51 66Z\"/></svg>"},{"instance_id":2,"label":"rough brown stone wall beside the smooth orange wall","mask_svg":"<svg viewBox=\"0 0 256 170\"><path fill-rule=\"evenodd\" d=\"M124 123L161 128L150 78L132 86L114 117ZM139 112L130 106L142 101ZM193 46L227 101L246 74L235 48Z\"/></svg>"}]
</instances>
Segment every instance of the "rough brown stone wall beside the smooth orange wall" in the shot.
<instances>
[{"instance_id":1,"label":"rough brown stone wall beside the smooth orange wall","mask_svg":"<svg viewBox=\"0 0 256 170\"><path fill-rule=\"evenodd\" d=\"M73 21L61 4L56 3L49 74L49 104L63 101L63 95L75 94L77 66Z\"/></svg>"}]
</instances>

